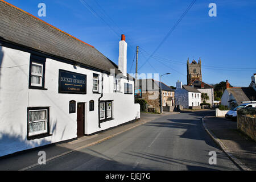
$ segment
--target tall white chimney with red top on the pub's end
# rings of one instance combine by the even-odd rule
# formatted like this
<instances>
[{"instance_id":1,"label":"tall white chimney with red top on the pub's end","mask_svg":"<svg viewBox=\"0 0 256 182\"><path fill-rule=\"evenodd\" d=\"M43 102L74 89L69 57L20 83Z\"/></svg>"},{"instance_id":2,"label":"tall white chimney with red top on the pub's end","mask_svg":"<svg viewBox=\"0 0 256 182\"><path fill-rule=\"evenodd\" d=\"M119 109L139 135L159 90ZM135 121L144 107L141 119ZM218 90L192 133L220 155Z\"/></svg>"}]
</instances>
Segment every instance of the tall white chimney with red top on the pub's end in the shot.
<instances>
[{"instance_id":1,"label":"tall white chimney with red top on the pub's end","mask_svg":"<svg viewBox=\"0 0 256 182\"><path fill-rule=\"evenodd\" d=\"M127 73L127 43L125 42L125 35L122 34L121 41L119 41L119 57L118 69L126 76Z\"/></svg>"}]
</instances>

